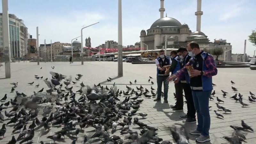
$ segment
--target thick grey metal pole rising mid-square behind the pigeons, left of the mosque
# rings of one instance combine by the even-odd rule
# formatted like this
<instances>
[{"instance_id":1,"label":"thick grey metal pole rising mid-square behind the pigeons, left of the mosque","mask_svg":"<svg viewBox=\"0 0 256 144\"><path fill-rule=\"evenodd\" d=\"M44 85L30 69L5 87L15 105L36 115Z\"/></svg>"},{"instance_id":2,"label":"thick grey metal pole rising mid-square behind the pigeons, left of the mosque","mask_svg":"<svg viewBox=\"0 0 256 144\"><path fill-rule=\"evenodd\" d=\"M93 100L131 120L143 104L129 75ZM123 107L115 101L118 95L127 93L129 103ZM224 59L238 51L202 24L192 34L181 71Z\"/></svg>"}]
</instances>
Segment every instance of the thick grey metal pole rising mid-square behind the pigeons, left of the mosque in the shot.
<instances>
[{"instance_id":1,"label":"thick grey metal pole rising mid-square behind the pigeons, left of the mosque","mask_svg":"<svg viewBox=\"0 0 256 144\"><path fill-rule=\"evenodd\" d=\"M118 76L123 76L122 0L118 0Z\"/></svg>"}]
</instances>

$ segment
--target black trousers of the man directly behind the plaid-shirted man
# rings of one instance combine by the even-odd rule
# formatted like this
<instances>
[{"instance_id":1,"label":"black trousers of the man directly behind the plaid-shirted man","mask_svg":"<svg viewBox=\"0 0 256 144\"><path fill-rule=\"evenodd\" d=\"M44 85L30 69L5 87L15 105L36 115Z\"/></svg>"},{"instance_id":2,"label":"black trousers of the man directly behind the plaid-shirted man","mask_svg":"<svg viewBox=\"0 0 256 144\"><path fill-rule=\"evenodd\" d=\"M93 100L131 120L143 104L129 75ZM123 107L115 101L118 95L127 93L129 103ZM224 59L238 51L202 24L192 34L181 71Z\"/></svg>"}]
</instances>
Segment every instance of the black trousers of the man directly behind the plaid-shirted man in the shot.
<instances>
[{"instance_id":1,"label":"black trousers of the man directly behind the plaid-shirted man","mask_svg":"<svg viewBox=\"0 0 256 144\"><path fill-rule=\"evenodd\" d=\"M188 117L196 118L196 109L194 106L194 101L193 101L193 96L192 96L192 91L191 91L190 85L187 83L182 83L182 87L183 87L183 90L185 93L185 98L187 100L187 108L188 108L187 115L188 115Z\"/></svg>"}]
</instances>

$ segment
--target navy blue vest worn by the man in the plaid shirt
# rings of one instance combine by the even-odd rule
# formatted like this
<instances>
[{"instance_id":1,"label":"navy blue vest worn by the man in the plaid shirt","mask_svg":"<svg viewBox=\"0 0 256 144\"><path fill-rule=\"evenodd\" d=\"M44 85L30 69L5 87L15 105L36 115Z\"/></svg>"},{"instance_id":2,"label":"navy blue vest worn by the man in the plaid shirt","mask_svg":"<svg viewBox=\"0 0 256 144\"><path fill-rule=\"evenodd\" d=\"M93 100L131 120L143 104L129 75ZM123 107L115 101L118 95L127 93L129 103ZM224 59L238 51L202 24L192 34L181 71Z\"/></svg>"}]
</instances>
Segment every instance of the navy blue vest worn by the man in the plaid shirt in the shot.
<instances>
[{"instance_id":1,"label":"navy blue vest worn by the man in the plaid shirt","mask_svg":"<svg viewBox=\"0 0 256 144\"><path fill-rule=\"evenodd\" d=\"M210 54L206 52L200 52L195 57L192 57L189 60L189 64L196 69L200 71L207 70L204 60L206 57L212 57ZM192 91L210 91L212 90L212 77L207 76L195 76L190 78L190 87Z\"/></svg>"}]
</instances>

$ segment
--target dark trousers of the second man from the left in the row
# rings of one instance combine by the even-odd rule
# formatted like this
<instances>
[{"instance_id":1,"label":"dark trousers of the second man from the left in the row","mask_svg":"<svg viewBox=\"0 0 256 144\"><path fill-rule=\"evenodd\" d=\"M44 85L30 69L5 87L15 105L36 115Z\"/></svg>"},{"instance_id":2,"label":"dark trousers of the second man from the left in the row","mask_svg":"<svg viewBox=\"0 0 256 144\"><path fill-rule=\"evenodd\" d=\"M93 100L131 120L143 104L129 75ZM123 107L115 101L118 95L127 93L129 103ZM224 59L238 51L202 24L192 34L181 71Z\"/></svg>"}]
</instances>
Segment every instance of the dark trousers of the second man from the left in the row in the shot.
<instances>
[{"instance_id":1,"label":"dark trousers of the second man from the left in the row","mask_svg":"<svg viewBox=\"0 0 256 144\"><path fill-rule=\"evenodd\" d=\"M179 82L174 84L175 87L175 94L176 94L176 108L183 109L183 87L182 84Z\"/></svg>"}]
</instances>

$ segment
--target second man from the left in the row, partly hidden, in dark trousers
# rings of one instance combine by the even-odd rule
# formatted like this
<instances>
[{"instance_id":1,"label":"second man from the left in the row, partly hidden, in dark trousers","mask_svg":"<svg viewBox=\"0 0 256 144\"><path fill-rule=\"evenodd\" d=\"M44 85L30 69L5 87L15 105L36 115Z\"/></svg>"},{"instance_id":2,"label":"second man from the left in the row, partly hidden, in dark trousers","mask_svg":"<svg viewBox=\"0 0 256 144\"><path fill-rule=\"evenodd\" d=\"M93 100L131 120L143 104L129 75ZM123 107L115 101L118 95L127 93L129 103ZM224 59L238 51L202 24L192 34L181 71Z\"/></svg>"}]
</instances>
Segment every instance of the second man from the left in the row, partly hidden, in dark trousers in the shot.
<instances>
[{"instance_id":1,"label":"second man from the left in the row, partly hidden, in dark trousers","mask_svg":"<svg viewBox=\"0 0 256 144\"><path fill-rule=\"evenodd\" d=\"M170 57L172 60L172 64L170 66L164 66L164 68L169 67L169 71L171 74L175 74L178 70L180 70L180 57L177 51L172 50L170 53ZM180 82L174 84L175 87L175 95L176 95L176 107L172 108L174 111L182 111L183 110L183 89Z\"/></svg>"}]
</instances>

